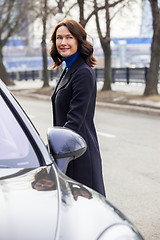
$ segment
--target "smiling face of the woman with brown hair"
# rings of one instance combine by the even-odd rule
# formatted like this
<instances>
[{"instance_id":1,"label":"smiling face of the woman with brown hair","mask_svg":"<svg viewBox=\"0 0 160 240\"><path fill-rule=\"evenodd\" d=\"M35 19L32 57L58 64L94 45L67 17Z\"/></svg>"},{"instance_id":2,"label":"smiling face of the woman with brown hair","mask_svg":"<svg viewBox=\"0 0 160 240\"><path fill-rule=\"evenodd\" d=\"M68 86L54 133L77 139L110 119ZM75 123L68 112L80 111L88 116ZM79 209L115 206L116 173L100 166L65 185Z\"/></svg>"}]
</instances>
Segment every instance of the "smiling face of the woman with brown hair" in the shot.
<instances>
[{"instance_id":1,"label":"smiling face of the woman with brown hair","mask_svg":"<svg viewBox=\"0 0 160 240\"><path fill-rule=\"evenodd\" d=\"M56 47L62 57L69 57L77 52L78 41L65 26L57 29Z\"/></svg>"}]
</instances>

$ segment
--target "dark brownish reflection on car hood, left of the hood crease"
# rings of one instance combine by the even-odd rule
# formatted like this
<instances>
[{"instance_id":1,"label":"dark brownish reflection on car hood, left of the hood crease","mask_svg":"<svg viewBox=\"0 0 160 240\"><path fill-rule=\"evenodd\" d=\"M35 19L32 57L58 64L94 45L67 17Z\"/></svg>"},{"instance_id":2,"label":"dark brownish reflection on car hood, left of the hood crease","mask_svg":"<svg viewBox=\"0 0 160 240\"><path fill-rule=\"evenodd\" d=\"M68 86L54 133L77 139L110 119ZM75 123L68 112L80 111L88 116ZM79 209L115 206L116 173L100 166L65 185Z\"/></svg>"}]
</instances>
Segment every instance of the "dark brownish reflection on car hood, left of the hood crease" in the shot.
<instances>
[{"instance_id":1,"label":"dark brownish reflection on car hood, left of the hood crease","mask_svg":"<svg viewBox=\"0 0 160 240\"><path fill-rule=\"evenodd\" d=\"M38 191L51 191L56 189L56 181L53 175L47 172L47 169L41 169L32 182L32 188Z\"/></svg>"}]
</instances>

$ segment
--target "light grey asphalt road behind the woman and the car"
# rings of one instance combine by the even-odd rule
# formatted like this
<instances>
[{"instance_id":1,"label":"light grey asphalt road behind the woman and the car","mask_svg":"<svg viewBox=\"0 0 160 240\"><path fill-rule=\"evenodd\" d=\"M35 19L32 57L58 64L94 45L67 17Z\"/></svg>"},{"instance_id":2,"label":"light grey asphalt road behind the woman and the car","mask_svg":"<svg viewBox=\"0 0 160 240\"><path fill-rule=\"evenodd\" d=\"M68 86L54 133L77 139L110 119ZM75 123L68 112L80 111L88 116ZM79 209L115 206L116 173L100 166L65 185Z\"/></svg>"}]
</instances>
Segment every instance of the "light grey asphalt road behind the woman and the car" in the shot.
<instances>
[{"instance_id":1,"label":"light grey asphalt road behind the woman and the car","mask_svg":"<svg viewBox=\"0 0 160 240\"><path fill-rule=\"evenodd\" d=\"M47 143L51 103L17 97ZM160 237L160 116L97 107L95 123L108 199L146 240Z\"/></svg>"}]
</instances>

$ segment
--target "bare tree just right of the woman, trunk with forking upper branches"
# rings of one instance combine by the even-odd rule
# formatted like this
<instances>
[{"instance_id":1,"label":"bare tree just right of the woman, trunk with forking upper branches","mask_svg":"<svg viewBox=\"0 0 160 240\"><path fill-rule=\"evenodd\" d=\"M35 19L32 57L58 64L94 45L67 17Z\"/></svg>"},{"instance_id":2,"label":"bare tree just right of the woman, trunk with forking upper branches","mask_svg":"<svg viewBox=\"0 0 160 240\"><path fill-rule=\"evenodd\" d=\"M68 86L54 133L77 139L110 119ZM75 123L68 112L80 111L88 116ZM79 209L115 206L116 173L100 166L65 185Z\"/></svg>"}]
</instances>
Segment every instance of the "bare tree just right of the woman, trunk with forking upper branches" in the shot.
<instances>
[{"instance_id":1,"label":"bare tree just right of the woman, trunk with forking upper branches","mask_svg":"<svg viewBox=\"0 0 160 240\"><path fill-rule=\"evenodd\" d=\"M112 68L111 68L111 20L115 17L115 15L123 10L125 7L129 7L135 0L117 0L117 1L109 1L104 0L97 1L92 0L90 4L93 3L92 10L88 13L86 17L84 17L85 12L85 4L89 3L89 1L85 0L77 0L79 6L79 22L83 27L89 22L89 20L95 16L97 33L99 36L99 40L104 52L104 85L102 90L111 90L111 82L112 82ZM119 5L119 7L117 7ZM116 8L117 7L117 8ZM110 14L111 10L112 15ZM87 8L91 9L91 7ZM103 16L103 18L101 18ZM103 24L100 24L100 23Z\"/></svg>"}]
</instances>

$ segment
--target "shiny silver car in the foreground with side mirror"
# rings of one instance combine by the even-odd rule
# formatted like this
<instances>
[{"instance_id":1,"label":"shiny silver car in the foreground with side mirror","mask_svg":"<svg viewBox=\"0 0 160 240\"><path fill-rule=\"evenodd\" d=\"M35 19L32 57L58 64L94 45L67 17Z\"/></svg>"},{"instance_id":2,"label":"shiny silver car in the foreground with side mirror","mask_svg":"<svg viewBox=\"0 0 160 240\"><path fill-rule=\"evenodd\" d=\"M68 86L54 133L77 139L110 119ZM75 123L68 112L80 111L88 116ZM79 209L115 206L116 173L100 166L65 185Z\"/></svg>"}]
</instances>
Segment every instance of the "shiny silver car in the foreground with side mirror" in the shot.
<instances>
[{"instance_id":1,"label":"shiny silver car in the foreground with side mirror","mask_svg":"<svg viewBox=\"0 0 160 240\"><path fill-rule=\"evenodd\" d=\"M0 80L0 239L143 240L104 196L65 175L84 139L50 127L44 144Z\"/></svg>"}]
</instances>

